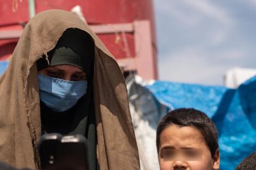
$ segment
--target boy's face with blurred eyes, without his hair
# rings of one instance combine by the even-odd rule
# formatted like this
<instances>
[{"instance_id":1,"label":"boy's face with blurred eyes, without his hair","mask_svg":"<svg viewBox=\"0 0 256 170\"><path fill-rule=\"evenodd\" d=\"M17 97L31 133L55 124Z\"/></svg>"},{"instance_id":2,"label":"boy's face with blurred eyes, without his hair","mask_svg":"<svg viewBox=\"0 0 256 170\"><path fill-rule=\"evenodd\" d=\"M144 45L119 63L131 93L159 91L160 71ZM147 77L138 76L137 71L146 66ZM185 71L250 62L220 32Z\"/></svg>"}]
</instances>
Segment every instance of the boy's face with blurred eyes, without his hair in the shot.
<instances>
[{"instance_id":1,"label":"boy's face with blurred eyes, without his hair","mask_svg":"<svg viewBox=\"0 0 256 170\"><path fill-rule=\"evenodd\" d=\"M171 125L161 132L158 160L161 170L220 168L219 152L213 160L200 131L190 126Z\"/></svg>"}]
</instances>

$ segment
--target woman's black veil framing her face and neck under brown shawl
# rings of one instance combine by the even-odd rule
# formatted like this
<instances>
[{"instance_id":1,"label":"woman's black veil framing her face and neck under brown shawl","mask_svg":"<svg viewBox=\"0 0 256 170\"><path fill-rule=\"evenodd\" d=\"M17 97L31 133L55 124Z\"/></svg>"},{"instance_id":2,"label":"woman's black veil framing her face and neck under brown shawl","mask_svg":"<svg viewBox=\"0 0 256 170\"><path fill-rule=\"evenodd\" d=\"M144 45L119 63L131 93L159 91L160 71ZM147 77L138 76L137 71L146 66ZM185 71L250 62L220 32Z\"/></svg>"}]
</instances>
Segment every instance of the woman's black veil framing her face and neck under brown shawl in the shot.
<instances>
[{"instance_id":1,"label":"woman's black veil framing her face and neck under brown shawl","mask_svg":"<svg viewBox=\"0 0 256 170\"><path fill-rule=\"evenodd\" d=\"M98 169L93 100L94 47L88 33L77 28L69 28L64 31L56 47L48 52L49 64L45 56L37 61L38 71L53 65L69 64L81 68L87 74L87 94L79 99L74 107L60 113L40 102L40 109L42 134L81 134L87 138L90 170Z\"/></svg>"}]
</instances>

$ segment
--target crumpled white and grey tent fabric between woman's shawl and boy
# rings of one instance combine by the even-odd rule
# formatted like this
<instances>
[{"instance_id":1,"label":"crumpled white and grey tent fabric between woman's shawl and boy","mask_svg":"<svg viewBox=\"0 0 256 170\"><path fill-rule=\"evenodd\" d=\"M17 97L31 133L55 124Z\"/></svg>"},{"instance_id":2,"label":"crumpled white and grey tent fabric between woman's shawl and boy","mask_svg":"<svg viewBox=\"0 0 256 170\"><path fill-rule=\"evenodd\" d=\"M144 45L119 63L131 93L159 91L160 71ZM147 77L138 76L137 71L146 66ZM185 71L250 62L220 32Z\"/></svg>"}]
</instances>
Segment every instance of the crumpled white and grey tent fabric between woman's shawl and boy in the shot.
<instances>
[{"instance_id":1,"label":"crumpled white and grey tent fabric between woman's shawl and boy","mask_svg":"<svg viewBox=\"0 0 256 170\"><path fill-rule=\"evenodd\" d=\"M140 169L160 169L156 149L156 127L158 119L166 115L167 108L161 105L146 89L138 76L126 78L130 114L139 148Z\"/></svg>"}]
</instances>

